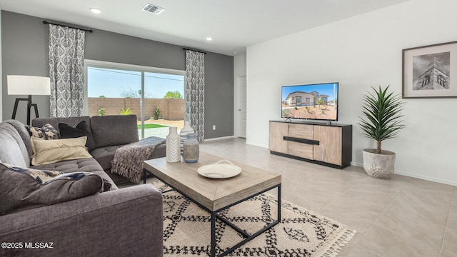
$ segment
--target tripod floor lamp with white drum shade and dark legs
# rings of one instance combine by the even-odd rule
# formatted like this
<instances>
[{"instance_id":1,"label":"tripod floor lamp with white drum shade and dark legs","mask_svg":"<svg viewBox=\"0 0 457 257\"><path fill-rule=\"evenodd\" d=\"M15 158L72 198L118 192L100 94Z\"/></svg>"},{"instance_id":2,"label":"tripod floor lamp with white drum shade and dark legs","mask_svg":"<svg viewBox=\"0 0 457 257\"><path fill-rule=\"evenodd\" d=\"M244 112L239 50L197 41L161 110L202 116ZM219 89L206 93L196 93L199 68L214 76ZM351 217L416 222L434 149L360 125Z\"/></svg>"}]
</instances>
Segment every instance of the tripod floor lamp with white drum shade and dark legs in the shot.
<instances>
[{"instance_id":1,"label":"tripod floor lamp with white drum shade and dark legs","mask_svg":"<svg viewBox=\"0 0 457 257\"><path fill-rule=\"evenodd\" d=\"M8 75L8 94L9 95L27 95L27 98L16 98L14 103L13 116L11 119L16 119L17 106L19 101L27 101L27 124L30 125L30 109L33 106L35 109L35 117L39 118L38 106L31 103L32 95L51 94L51 85L48 77L41 76L22 76Z\"/></svg>"}]
</instances>

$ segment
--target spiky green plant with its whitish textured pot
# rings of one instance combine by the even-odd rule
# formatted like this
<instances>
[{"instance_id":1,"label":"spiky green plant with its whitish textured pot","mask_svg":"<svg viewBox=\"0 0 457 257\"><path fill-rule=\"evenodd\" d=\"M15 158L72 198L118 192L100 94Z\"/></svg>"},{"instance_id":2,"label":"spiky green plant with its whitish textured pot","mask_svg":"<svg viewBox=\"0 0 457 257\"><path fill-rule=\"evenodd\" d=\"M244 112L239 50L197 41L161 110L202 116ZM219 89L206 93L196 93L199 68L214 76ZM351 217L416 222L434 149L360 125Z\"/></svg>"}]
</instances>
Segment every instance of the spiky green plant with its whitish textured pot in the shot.
<instances>
[{"instance_id":1,"label":"spiky green plant with its whitish textured pot","mask_svg":"<svg viewBox=\"0 0 457 257\"><path fill-rule=\"evenodd\" d=\"M363 168L368 176L390 178L393 174L396 154L381 149L381 142L396 137L403 129L403 101L401 95L388 93L386 89L373 89L363 96L362 113L358 124L363 134L376 140L376 149L363 149Z\"/></svg>"}]
</instances>

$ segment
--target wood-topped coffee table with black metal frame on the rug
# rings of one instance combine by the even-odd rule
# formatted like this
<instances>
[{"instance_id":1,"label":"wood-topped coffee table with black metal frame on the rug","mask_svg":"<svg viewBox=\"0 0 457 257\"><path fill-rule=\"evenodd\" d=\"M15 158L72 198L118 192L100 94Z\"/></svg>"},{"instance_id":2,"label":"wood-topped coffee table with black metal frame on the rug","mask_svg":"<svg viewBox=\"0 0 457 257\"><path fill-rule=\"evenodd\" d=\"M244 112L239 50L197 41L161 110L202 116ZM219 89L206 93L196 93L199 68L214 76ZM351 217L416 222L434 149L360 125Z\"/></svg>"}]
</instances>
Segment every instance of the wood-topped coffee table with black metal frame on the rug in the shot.
<instances>
[{"instance_id":1,"label":"wood-topped coffee table with black metal frame on the rug","mask_svg":"<svg viewBox=\"0 0 457 257\"><path fill-rule=\"evenodd\" d=\"M232 162L236 166L240 166L242 171L233 178L206 178L197 173L197 169L200 166L216 163L222 159L209 153L200 152L199 161L196 163L186 163L184 161L168 163L166 158L144 161L144 183L146 183L146 173L151 173L211 214L211 256L216 256L216 218L245 237L243 241L219 256L231 253L231 251L281 221L281 175L235 161ZM278 217L256 233L246 233L246 231L218 215L220 211L226 208L230 208L273 188L278 188Z\"/></svg>"}]
</instances>

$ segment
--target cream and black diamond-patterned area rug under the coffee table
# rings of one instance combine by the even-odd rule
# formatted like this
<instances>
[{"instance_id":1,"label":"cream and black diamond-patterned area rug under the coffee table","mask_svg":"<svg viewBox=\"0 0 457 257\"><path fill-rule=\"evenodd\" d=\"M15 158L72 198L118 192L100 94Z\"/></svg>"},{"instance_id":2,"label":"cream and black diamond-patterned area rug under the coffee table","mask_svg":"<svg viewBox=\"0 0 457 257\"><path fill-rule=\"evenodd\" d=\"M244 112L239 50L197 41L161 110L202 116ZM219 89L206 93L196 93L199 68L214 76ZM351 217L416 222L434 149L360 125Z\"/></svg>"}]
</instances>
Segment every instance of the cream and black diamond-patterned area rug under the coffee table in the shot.
<instances>
[{"instance_id":1,"label":"cream and black diamond-patterned area rug under the coffee table","mask_svg":"<svg viewBox=\"0 0 457 257\"><path fill-rule=\"evenodd\" d=\"M170 189L162 182L154 186L162 192ZM293 203L282 201L281 205L281 223L228 256L338 256L356 233ZM276 199L264 193L219 214L252 233L277 217L277 206ZM216 231L216 255L243 240L221 221L216 223ZM164 193L164 256L209 256L210 233L208 212L176 191Z\"/></svg>"}]
</instances>

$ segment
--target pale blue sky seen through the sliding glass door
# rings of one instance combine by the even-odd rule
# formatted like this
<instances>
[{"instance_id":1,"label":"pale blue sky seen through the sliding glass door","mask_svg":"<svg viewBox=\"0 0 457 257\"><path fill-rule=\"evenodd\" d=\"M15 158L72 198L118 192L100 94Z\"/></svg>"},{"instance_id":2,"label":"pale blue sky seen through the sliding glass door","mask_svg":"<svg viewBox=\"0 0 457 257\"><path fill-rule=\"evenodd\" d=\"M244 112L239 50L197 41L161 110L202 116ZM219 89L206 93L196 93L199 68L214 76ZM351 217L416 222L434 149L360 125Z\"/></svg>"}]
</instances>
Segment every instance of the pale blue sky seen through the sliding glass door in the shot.
<instances>
[{"instance_id":1,"label":"pale blue sky seen through the sliding glass door","mask_svg":"<svg viewBox=\"0 0 457 257\"><path fill-rule=\"evenodd\" d=\"M164 98L168 91L179 91L184 96L184 76L144 73L144 95L146 98ZM89 97L124 97L126 91L141 89L141 72L88 67L87 94Z\"/></svg>"}]
</instances>

